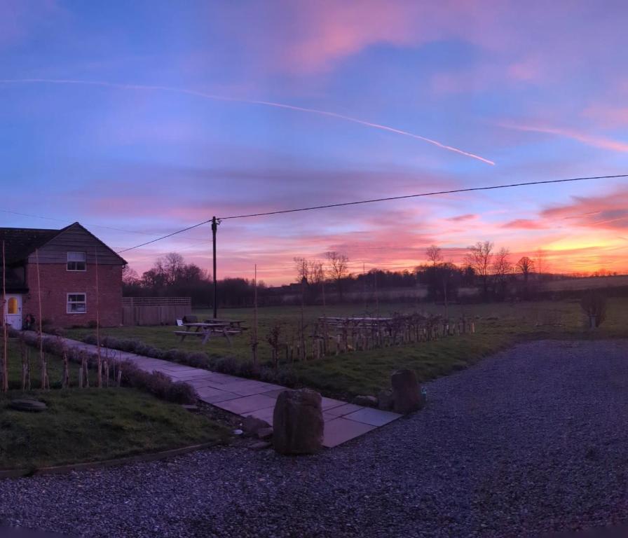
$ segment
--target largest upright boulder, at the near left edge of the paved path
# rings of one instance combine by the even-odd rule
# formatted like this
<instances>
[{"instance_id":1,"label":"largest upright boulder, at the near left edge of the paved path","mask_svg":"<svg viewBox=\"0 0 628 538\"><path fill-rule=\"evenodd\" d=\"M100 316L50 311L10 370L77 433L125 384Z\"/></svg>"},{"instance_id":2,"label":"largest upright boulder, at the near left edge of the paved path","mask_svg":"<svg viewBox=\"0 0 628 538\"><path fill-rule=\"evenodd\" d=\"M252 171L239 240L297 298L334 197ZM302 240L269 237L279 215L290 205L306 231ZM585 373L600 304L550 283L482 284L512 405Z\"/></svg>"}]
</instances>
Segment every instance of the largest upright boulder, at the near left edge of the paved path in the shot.
<instances>
[{"instance_id":1,"label":"largest upright boulder, at the near left edge of the paved path","mask_svg":"<svg viewBox=\"0 0 628 538\"><path fill-rule=\"evenodd\" d=\"M322 447L321 398L310 389L285 390L273 413L273 446L280 454L313 454Z\"/></svg>"}]
</instances>

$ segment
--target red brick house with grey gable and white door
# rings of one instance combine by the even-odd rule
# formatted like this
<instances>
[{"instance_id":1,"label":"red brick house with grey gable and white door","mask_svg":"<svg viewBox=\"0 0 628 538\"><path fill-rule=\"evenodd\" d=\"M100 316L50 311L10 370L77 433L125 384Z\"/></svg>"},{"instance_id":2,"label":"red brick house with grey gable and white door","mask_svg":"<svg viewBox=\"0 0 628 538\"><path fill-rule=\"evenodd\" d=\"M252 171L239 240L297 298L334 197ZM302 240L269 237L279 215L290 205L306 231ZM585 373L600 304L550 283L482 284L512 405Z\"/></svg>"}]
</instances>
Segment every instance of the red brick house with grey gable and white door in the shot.
<instances>
[{"instance_id":1,"label":"red brick house with grey gable and white door","mask_svg":"<svg viewBox=\"0 0 628 538\"><path fill-rule=\"evenodd\" d=\"M40 295L43 321L60 327L95 322L96 270L100 323L122 323L122 268L126 262L81 224L75 222L61 230L0 228L0 249L2 241L6 258L4 316L15 329L22 328L28 314L39 318Z\"/></svg>"}]
</instances>

